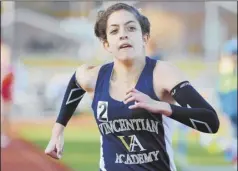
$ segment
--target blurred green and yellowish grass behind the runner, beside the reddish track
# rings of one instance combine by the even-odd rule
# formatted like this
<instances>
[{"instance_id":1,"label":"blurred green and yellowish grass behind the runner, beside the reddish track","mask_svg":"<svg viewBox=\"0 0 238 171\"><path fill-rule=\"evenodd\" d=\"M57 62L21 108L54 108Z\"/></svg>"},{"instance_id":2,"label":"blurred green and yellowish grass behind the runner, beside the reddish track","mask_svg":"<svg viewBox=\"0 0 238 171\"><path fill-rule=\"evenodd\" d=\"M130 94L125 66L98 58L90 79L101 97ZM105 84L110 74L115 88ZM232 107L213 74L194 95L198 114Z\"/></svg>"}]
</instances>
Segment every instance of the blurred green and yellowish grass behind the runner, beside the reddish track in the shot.
<instances>
[{"instance_id":1,"label":"blurred green and yellowish grass behind the runner, beside the reddish track","mask_svg":"<svg viewBox=\"0 0 238 171\"><path fill-rule=\"evenodd\" d=\"M43 125L24 126L20 133L42 150L45 149L51 134L51 127ZM176 137L176 136L175 136ZM188 162L193 165L226 165L222 154L210 154L202 148L196 138L190 137L188 146ZM174 141L176 148L176 139ZM62 162L75 171L97 171L99 166L99 132L96 126L71 126L65 130L65 150ZM180 160L179 158L175 159Z\"/></svg>"}]
</instances>

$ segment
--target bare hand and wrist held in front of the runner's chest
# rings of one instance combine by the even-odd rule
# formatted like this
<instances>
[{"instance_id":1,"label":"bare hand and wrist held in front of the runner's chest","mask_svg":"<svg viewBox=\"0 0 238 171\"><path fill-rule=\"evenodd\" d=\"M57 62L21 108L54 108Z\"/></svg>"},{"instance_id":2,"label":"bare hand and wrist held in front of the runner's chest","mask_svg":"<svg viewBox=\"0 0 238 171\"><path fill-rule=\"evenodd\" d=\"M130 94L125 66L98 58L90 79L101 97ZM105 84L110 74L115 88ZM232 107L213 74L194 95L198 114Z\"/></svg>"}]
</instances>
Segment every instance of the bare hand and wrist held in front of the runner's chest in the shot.
<instances>
[{"instance_id":1,"label":"bare hand and wrist held in front of the runner's chest","mask_svg":"<svg viewBox=\"0 0 238 171\"><path fill-rule=\"evenodd\" d=\"M153 100L135 88L129 90L124 99L125 104L131 101L135 101L135 104L129 106L129 109L143 108L151 113L161 113L166 116L172 114L172 109L168 103Z\"/></svg>"}]
</instances>

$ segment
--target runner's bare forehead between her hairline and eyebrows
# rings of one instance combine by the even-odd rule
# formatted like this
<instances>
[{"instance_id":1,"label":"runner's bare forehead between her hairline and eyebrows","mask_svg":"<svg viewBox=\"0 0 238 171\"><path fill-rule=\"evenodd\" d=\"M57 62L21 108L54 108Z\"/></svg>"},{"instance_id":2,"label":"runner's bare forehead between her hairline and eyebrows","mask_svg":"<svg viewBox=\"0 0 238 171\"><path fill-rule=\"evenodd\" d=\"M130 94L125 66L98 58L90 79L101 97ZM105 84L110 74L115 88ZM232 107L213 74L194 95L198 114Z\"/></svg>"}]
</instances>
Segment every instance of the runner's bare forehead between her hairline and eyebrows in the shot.
<instances>
[{"instance_id":1,"label":"runner's bare forehead between her hairline and eyebrows","mask_svg":"<svg viewBox=\"0 0 238 171\"><path fill-rule=\"evenodd\" d=\"M136 17L134 16L133 13L126 11L126 10L119 10L119 11L115 11L113 12L108 20L107 20L107 25L123 25L128 21L135 21L135 23L138 23Z\"/></svg>"}]
</instances>

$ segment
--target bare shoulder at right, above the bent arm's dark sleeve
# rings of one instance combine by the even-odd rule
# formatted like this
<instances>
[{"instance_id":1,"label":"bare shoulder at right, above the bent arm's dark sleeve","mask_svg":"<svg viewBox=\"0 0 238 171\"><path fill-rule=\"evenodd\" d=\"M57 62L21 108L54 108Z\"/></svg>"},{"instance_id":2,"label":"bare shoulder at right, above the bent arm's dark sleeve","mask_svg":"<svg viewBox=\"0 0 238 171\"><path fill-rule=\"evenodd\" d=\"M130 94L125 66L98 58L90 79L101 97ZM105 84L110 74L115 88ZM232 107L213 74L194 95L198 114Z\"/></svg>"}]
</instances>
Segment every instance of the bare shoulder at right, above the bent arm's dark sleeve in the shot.
<instances>
[{"instance_id":1,"label":"bare shoulder at right, above the bent arm's dark sleeve","mask_svg":"<svg viewBox=\"0 0 238 171\"><path fill-rule=\"evenodd\" d=\"M154 75L159 80L157 84L166 91L171 91L180 82L188 80L181 69L167 61L157 61Z\"/></svg>"}]
</instances>

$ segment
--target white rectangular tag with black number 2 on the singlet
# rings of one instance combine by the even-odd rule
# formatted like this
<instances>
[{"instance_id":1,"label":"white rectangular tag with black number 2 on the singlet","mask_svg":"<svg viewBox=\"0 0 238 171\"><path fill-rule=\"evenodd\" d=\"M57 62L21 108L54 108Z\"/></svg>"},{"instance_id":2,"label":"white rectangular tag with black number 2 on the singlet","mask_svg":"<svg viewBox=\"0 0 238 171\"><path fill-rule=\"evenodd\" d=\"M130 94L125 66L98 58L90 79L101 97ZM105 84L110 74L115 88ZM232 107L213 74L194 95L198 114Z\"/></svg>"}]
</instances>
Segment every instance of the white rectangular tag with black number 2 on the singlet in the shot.
<instances>
[{"instance_id":1,"label":"white rectangular tag with black number 2 on the singlet","mask_svg":"<svg viewBox=\"0 0 238 171\"><path fill-rule=\"evenodd\" d=\"M97 119L101 122L108 121L108 102L107 101L98 101Z\"/></svg>"}]
</instances>

